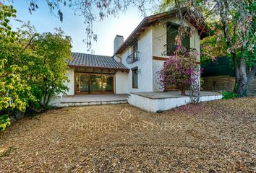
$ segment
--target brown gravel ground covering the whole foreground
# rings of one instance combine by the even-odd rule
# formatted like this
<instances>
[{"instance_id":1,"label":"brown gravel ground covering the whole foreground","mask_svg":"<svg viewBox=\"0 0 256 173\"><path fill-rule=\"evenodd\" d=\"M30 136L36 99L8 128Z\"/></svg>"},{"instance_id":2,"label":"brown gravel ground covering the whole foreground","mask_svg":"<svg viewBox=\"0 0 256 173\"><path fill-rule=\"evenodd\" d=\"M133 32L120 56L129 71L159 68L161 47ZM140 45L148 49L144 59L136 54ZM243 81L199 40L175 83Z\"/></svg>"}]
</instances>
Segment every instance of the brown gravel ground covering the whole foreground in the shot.
<instances>
[{"instance_id":1,"label":"brown gravel ground covering the whole foreground","mask_svg":"<svg viewBox=\"0 0 256 173\"><path fill-rule=\"evenodd\" d=\"M256 97L25 117L0 133L0 172L256 172Z\"/></svg>"}]
</instances>

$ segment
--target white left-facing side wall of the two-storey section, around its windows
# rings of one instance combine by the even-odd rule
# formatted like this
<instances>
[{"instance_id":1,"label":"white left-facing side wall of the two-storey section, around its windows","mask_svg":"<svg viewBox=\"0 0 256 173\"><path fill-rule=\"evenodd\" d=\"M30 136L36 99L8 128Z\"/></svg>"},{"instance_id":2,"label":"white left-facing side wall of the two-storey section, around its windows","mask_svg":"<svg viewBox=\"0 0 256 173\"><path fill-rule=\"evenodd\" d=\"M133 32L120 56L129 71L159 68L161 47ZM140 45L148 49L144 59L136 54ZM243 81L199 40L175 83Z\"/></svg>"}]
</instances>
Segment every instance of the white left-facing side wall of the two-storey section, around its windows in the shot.
<instances>
[{"instance_id":1,"label":"white left-facing side wall of the two-storey section, around its windows","mask_svg":"<svg viewBox=\"0 0 256 173\"><path fill-rule=\"evenodd\" d=\"M132 49L128 46L123 53L121 53L121 63L127 68L131 69L138 67L140 74L138 74L138 88L132 88L132 70L129 71L128 76L128 92L153 92L153 48L152 48L152 27L148 27L138 39L138 51L140 60L127 64L126 59L132 53ZM117 81L117 80L116 80Z\"/></svg>"}]
</instances>

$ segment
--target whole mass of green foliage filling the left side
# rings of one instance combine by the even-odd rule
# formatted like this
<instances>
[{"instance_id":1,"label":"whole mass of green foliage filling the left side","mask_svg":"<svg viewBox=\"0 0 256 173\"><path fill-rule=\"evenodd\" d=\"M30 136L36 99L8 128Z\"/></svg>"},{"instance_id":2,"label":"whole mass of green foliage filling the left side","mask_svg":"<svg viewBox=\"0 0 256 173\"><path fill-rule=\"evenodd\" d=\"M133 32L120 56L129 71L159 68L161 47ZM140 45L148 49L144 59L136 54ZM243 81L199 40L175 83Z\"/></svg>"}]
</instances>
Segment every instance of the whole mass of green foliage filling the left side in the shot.
<instances>
[{"instance_id":1,"label":"whole mass of green foliage filling the left side","mask_svg":"<svg viewBox=\"0 0 256 173\"><path fill-rule=\"evenodd\" d=\"M9 112L25 112L27 107L40 112L54 94L67 91L64 82L71 58L71 38L60 29L40 35L28 22L13 32L9 21L15 12L13 6L0 3L1 130L9 125Z\"/></svg>"}]
</instances>

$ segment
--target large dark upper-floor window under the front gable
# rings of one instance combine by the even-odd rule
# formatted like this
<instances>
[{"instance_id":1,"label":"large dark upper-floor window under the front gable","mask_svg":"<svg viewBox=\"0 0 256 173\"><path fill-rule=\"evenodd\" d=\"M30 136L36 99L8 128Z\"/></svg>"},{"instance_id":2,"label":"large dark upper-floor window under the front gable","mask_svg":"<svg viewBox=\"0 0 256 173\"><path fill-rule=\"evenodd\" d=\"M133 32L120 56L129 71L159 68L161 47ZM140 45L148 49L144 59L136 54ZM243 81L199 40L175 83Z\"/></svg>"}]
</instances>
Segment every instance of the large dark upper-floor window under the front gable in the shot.
<instances>
[{"instance_id":1,"label":"large dark upper-floor window under the front gable","mask_svg":"<svg viewBox=\"0 0 256 173\"><path fill-rule=\"evenodd\" d=\"M176 45L175 45L175 37L178 35L178 28L179 25L174 24L172 22L168 22L166 25L166 56L171 56L174 54L174 51L176 50ZM189 48L190 47L190 37L189 34L186 34L186 36L182 40L182 46L184 48Z\"/></svg>"}]
</instances>

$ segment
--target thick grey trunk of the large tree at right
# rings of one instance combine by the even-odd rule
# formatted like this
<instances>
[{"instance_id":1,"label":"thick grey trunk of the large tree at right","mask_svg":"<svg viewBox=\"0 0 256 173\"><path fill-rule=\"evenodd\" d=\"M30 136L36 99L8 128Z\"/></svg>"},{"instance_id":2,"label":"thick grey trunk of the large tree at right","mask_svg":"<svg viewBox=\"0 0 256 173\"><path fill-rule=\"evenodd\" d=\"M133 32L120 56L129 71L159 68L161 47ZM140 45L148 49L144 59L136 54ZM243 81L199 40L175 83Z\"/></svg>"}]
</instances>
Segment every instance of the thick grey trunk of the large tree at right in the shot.
<instances>
[{"instance_id":1,"label":"thick grey trunk of the large tree at right","mask_svg":"<svg viewBox=\"0 0 256 173\"><path fill-rule=\"evenodd\" d=\"M242 96L247 94L246 91L247 91L246 62L242 53L240 67L239 67L239 81L238 81L236 93Z\"/></svg>"}]
</instances>

